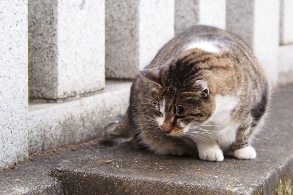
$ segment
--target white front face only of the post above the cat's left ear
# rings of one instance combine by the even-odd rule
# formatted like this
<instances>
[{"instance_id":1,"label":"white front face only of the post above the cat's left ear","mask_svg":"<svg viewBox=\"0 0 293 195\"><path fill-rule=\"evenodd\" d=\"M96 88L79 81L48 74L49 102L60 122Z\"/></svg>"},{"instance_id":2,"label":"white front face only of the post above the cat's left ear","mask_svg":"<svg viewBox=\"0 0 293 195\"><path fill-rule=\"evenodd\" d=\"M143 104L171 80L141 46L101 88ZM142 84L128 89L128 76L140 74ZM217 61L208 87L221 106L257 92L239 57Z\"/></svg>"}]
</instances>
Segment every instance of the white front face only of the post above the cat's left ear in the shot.
<instances>
[{"instance_id":1,"label":"white front face only of the post above the cat's left ear","mask_svg":"<svg viewBox=\"0 0 293 195\"><path fill-rule=\"evenodd\" d=\"M139 5L140 69L174 37L174 0L141 0Z\"/></svg>"}]
</instances>

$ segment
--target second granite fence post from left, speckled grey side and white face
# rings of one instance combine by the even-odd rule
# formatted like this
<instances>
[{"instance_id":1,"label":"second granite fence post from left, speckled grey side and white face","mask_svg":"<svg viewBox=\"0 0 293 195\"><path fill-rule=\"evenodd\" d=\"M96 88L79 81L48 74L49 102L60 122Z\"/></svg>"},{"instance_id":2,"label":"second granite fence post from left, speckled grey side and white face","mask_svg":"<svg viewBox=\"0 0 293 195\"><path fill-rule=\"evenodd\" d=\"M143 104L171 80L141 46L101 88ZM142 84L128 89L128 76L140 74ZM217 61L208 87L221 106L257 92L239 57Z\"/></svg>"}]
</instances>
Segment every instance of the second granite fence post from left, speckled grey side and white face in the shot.
<instances>
[{"instance_id":1,"label":"second granite fence post from left, speckled grey side and white face","mask_svg":"<svg viewBox=\"0 0 293 195\"><path fill-rule=\"evenodd\" d=\"M29 0L29 96L67 98L105 86L105 0Z\"/></svg>"}]
</instances>

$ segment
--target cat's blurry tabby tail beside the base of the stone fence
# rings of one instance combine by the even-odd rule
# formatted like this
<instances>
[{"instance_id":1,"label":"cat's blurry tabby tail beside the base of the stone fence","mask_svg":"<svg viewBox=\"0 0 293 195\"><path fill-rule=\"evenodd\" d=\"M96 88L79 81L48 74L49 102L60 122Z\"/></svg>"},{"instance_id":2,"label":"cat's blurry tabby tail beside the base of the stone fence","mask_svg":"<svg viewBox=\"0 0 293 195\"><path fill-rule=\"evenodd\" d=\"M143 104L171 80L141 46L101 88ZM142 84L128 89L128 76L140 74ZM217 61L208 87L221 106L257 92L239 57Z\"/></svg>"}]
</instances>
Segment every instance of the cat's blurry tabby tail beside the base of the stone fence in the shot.
<instances>
[{"instance_id":1,"label":"cat's blurry tabby tail beside the base of the stone fence","mask_svg":"<svg viewBox=\"0 0 293 195\"><path fill-rule=\"evenodd\" d=\"M104 128L102 137L105 140L112 140L117 137L130 137L129 135L128 111L125 115L119 114Z\"/></svg>"}]
</instances>

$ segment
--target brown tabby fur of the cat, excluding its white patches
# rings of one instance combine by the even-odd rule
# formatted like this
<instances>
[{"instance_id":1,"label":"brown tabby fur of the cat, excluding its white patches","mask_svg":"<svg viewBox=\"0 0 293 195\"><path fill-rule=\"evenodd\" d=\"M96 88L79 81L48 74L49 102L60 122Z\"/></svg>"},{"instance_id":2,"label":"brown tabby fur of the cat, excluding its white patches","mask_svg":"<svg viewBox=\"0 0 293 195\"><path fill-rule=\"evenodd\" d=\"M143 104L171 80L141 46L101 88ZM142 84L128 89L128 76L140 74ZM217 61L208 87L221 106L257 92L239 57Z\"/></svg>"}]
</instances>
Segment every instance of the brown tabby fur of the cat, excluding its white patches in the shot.
<instances>
[{"instance_id":1,"label":"brown tabby fur of the cat, excluding its white patches","mask_svg":"<svg viewBox=\"0 0 293 195\"><path fill-rule=\"evenodd\" d=\"M221 52L198 48L183 52L187 43L197 39L217 40ZM195 85L198 79L204 84ZM193 155L193 141L166 135L149 118L160 115L154 104L162 97L166 99L168 121L164 124L176 132L180 131L179 121L188 124L209 119L217 95L239 97L230 113L232 121L240 122L235 141L221 149L235 151L248 146L267 110L270 88L265 73L251 49L235 35L210 26L193 26L167 42L135 78L124 118L106 129L104 137L130 136L136 146L158 154ZM178 105L185 110L181 111ZM184 112L184 118L180 118L180 112Z\"/></svg>"}]
</instances>

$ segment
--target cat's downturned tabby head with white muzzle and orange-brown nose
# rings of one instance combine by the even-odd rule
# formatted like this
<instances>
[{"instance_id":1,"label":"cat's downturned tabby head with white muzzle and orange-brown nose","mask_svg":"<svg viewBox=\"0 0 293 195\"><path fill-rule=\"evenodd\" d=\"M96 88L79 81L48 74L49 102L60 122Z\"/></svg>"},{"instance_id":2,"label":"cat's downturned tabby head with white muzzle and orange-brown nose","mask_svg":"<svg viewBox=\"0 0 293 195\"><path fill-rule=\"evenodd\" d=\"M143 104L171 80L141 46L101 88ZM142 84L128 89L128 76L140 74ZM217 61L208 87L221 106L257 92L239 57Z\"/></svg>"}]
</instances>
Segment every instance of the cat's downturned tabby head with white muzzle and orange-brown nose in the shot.
<instances>
[{"instance_id":1,"label":"cat's downturned tabby head with white muzzle and orange-brown nose","mask_svg":"<svg viewBox=\"0 0 293 195\"><path fill-rule=\"evenodd\" d=\"M152 117L165 134L181 136L211 117L215 98L209 62L209 55L189 51L169 64L140 72L151 86Z\"/></svg>"}]
</instances>

